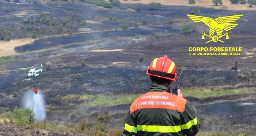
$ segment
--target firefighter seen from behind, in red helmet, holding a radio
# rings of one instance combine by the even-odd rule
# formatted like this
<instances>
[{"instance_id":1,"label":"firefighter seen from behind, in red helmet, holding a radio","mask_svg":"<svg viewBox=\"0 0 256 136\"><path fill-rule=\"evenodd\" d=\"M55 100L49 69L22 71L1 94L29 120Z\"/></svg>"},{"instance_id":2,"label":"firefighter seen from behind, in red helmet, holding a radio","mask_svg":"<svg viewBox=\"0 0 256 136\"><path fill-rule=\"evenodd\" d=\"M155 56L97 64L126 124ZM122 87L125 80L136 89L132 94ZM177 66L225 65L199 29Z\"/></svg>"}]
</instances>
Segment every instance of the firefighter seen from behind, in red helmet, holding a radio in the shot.
<instances>
[{"instance_id":1,"label":"firefighter seen from behind, in red helmet, holding a radio","mask_svg":"<svg viewBox=\"0 0 256 136\"><path fill-rule=\"evenodd\" d=\"M154 59L147 69L152 84L130 106L123 136L195 136L201 125L191 103L171 94L176 66L168 56Z\"/></svg>"}]
</instances>

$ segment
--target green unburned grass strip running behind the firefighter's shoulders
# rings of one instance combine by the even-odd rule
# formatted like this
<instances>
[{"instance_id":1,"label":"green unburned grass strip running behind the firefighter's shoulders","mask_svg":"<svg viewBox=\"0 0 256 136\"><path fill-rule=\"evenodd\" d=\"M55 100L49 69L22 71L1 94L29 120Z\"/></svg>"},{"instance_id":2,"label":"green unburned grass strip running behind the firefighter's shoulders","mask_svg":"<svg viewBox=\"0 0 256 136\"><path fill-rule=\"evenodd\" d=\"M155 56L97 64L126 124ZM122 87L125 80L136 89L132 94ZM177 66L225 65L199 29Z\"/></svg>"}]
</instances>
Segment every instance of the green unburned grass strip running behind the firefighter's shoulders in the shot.
<instances>
[{"instance_id":1,"label":"green unburned grass strip running behind the firefighter's shoulders","mask_svg":"<svg viewBox=\"0 0 256 136\"><path fill-rule=\"evenodd\" d=\"M208 98L214 96L229 96L233 94L250 94L255 93L255 90L249 89L227 89L224 90L222 87L206 87L206 88L186 88L181 89L184 96L192 96L196 98ZM145 92L146 93L146 92ZM53 98L55 101L83 101L80 105L82 107L94 107L94 106L115 106L122 104L130 104L136 98L142 94L68 94L65 96L56 96Z\"/></svg>"}]
</instances>

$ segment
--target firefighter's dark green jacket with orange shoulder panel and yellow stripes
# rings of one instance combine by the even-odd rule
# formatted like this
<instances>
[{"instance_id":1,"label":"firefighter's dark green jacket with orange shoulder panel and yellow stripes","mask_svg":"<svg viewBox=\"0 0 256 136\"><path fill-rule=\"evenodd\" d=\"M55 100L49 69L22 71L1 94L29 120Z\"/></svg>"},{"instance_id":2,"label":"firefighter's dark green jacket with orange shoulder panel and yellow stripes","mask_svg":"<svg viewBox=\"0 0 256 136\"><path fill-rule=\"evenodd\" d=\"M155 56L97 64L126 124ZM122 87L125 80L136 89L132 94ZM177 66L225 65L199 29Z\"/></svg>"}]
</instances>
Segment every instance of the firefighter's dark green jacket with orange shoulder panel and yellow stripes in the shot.
<instances>
[{"instance_id":1,"label":"firefighter's dark green jacket with orange shoulder panel and yellow stripes","mask_svg":"<svg viewBox=\"0 0 256 136\"><path fill-rule=\"evenodd\" d=\"M123 136L195 136L201 125L191 103L151 84L130 106Z\"/></svg>"}]
</instances>

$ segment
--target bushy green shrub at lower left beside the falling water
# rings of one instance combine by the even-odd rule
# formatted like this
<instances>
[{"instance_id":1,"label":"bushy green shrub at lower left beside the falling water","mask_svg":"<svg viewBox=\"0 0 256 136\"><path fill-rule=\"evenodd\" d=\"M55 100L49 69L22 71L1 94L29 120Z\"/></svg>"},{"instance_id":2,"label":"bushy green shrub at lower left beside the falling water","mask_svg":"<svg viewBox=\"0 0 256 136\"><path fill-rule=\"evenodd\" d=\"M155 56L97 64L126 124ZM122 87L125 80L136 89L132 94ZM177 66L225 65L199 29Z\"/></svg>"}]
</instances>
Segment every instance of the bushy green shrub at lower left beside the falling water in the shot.
<instances>
[{"instance_id":1,"label":"bushy green shrub at lower left beside the falling water","mask_svg":"<svg viewBox=\"0 0 256 136\"><path fill-rule=\"evenodd\" d=\"M10 120L10 123L19 126L25 126L34 123L35 117L31 109L19 109L14 108L13 112L8 112L7 117Z\"/></svg>"}]
</instances>

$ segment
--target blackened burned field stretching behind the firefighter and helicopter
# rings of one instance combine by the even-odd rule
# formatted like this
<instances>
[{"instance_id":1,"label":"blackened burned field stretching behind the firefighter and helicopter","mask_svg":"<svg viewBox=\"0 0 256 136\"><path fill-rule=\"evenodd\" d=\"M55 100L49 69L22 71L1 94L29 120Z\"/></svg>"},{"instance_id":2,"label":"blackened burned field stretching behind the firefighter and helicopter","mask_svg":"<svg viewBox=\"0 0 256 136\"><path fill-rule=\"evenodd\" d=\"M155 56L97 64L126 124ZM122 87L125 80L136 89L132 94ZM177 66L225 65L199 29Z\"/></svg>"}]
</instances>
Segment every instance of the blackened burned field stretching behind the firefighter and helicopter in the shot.
<instances>
[{"instance_id":1,"label":"blackened burned field stretching behind the firefighter and helicopter","mask_svg":"<svg viewBox=\"0 0 256 136\"><path fill-rule=\"evenodd\" d=\"M122 129L132 99L147 92L151 84L146 75L147 67L154 58L168 55L177 65L178 74L185 67L180 86L186 98L194 104L201 122L213 126L211 129L203 127L204 130L227 130L254 124L255 12L199 8L198 15L213 18L245 14L237 21L239 25L229 32L230 39L223 38L225 44L206 44L208 39L202 40L199 30L189 36L179 33L180 26L191 21L186 16L189 7L164 6L163 10L148 10L148 5L135 6L141 8L141 12L128 11L125 4L105 9L85 2L1 3L1 7L11 9L10 13L0 12L4 27L19 27L17 21L25 15L37 17L47 13L64 17L69 11L78 13L72 17L87 22L71 35L39 36L34 42L15 47L18 53L15 61L0 63L0 107L20 106L22 95L37 86L45 93L47 120L64 124L76 123L82 118L94 121L107 111L113 117L109 126ZM20 16L16 15L18 13ZM143 20L148 24L142 25ZM166 25L170 20L174 21L173 26ZM136 23L139 27L120 29L124 23L128 27L134 27ZM189 47L232 46L242 47L242 55L189 56L188 51ZM139 58L143 58L141 64ZM82 66L83 61L85 66ZM230 71L235 61L238 71ZM26 70L14 70L35 64L43 64L45 71L31 80L26 77ZM236 91L239 92L236 96L229 96ZM17 97L13 96L14 92Z\"/></svg>"}]
</instances>

